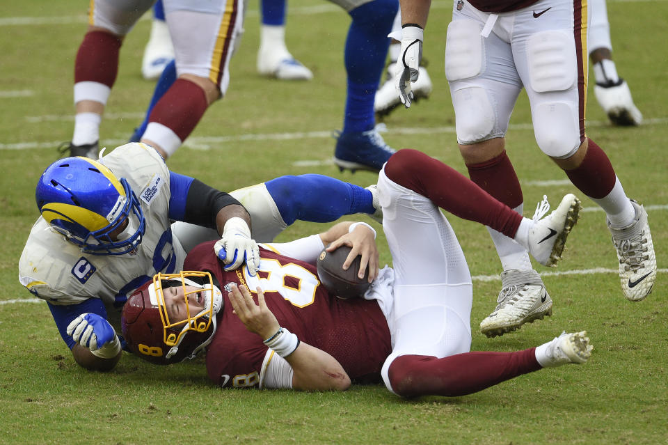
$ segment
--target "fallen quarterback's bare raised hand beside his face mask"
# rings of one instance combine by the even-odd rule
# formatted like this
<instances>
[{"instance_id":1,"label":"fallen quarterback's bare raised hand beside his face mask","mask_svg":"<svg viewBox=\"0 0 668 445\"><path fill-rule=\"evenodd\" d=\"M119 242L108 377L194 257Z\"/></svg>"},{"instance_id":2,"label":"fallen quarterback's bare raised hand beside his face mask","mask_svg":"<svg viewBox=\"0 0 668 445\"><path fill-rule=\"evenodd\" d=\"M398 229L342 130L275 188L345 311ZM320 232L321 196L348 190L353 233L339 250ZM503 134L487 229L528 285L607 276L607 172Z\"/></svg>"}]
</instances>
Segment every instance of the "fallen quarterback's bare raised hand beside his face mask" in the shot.
<instances>
[{"instance_id":1,"label":"fallen quarterback's bare raised hand beside his face mask","mask_svg":"<svg viewBox=\"0 0 668 445\"><path fill-rule=\"evenodd\" d=\"M264 293L262 288L257 286L257 304L253 300L253 295L246 286L237 287L236 284L230 283L230 303L234 308L234 313L237 314L239 320L244 323L246 329L262 337L262 340L272 336L280 325L276 316L269 310L267 304L264 302Z\"/></svg>"}]
</instances>

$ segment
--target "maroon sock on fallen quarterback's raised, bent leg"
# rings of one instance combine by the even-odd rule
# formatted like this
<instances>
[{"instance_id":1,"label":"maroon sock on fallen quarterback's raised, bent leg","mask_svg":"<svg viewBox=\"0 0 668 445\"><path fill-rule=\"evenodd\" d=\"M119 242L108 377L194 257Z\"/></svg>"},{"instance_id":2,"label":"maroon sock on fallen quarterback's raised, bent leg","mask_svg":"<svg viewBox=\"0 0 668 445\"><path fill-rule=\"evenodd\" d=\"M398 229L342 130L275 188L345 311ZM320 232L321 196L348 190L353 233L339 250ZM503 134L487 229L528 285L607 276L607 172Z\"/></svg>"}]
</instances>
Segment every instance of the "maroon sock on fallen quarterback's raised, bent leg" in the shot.
<instances>
[{"instance_id":1,"label":"maroon sock on fallen quarterback's raised, bent leg","mask_svg":"<svg viewBox=\"0 0 668 445\"><path fill-rule=\"evenodd\" d=\"M420 151L399 150L385 164L385 175L431 199L443 210L490 226L511 238L515 237L522 221L522 215L497 201L466 176Z\"/></svg>"}]
</instances>

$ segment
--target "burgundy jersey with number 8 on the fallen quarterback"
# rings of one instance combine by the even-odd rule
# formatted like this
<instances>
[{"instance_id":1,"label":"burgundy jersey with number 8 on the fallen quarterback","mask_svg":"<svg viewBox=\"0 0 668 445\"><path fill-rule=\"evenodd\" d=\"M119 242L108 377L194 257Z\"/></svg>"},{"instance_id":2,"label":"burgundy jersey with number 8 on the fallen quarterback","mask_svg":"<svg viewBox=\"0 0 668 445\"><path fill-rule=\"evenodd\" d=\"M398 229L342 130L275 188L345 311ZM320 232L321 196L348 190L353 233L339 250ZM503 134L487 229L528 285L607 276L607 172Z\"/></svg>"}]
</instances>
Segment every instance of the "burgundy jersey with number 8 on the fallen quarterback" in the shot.
<instances>
[{"instance_id":1,"label":"burgundy jersey with number 8 on the fallen quarterback","mask_svg":"<svg viewBox=\"0 0 668 445\"><path fill-rule=\"evenodd\" d=\"M253 294L260 286L279 325L300 341L331 354L351 380L380 380L381 367L392 347L387 320L376 300L339 299L321 286L314 265L262 247L256 276L249 276L246 267L225 272L214 254L214 243L191 250L184 264L184 270L211 272L223 291L218 329L207 348L211 380L223 387L257 387L268 350L262 338L248 331L232 313L225 292L230 282L248 286Z\"/></svg>"}]
</instances>

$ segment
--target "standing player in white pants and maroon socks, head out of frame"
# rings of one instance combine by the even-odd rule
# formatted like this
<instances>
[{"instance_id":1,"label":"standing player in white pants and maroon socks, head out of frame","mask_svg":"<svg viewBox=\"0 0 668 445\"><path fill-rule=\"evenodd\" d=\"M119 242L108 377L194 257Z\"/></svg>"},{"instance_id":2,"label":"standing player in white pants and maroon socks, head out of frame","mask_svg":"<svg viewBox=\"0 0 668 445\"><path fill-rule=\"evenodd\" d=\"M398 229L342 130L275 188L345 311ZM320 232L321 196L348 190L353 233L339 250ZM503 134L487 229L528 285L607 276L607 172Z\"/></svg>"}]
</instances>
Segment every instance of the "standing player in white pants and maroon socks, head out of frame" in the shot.
<instances>
[{"instance_id":1,"label":"standing player in white pants and maroon socks, head out of frame","mask_svg":"<svg viewBox=\"0 0 668 445\"><path fill-rule=\"evenodd\" d=\"M400 3L402 46L395 81L401 102L409 107L430 2ZM536 144L605 211L623 294L639 301L656 278L647 213L626 196L610 159L584 131L590 18L585 0L454 0L445 75L471 180L520 213L522 189L506 153L505 134L525 88ZM489 233L503 268L502 290L480 329L497 336L550 315L552 299L526 249L498 231Z\"/></svg>"}]
</instances>

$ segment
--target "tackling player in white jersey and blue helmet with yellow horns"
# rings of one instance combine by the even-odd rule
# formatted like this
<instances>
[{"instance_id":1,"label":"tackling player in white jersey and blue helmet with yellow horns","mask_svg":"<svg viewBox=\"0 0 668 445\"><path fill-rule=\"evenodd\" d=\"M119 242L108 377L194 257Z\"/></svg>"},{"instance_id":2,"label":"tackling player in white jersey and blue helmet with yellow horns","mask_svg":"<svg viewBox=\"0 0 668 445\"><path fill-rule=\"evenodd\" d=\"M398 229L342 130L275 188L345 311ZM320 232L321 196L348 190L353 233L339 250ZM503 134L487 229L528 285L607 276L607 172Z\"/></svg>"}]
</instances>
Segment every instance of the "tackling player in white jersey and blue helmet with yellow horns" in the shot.
<instances>
[{"instance_id":1,"label":"tackling player in white jersey and blue helmet with yellow horns","mask_svg":"<svg viewBox=\"0 0 668 445\"><path fill-rule=\"evenodd\" d=\"M246 263L255 274L251 217L260 239L271 240L296 219L373 214L373 191L302 175L226 194L169 171L143 143L120 146L99 161L60 159L38 182L42 216L19 260L19 281L49 303L77 363L109 370L120 359L115 328L120 332L127 295L157 272L181 270L189 247L220 237L214 251L228 270Z\"/></svg>"}]
</instances>

